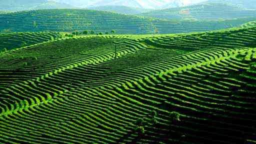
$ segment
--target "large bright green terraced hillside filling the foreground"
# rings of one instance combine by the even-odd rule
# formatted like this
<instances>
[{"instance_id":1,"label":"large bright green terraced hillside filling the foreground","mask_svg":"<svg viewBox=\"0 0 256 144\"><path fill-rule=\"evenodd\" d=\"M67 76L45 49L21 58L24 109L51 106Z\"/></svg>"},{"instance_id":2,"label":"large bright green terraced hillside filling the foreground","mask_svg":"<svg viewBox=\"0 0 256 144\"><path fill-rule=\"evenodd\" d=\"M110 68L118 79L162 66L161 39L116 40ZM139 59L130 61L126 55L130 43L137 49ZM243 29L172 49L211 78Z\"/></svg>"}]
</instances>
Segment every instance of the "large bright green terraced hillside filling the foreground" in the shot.
<instances>
[{"instance_id":1,"label":"large bright green terraced hillside filling the foreground","mask_svg":"<svg viewBox=\"0 0 256 144\"><path fill-rule=\"evenodd\" d=\"M2 53L0 142L255 140L256 27L134 37L70 38ZM151 110L156 125L147 123ZM171 111L180 122L168 120Z\"/></svg>"}]
</instances>

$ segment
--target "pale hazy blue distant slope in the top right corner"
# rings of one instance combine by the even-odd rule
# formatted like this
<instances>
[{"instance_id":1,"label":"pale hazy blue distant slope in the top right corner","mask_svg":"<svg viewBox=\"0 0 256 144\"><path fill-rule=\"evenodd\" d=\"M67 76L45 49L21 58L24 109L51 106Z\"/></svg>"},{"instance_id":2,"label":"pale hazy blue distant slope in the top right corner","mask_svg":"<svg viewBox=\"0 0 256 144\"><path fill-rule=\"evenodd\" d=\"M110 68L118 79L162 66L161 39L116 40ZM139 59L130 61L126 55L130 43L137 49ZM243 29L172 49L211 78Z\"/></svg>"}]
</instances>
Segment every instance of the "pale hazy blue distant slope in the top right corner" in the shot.
<instances>
[{"instance_id":1,"label":"pale hazy blue distant slope in the top right corner","mask_svg":"<svg viewBox=\"0 0 256 144\"><path fill-rule=\"evenodd\" d=\"M208 0L202 3L225 3L229 5L235 5L241 8L256 8L256 0Z\"/></svg>"}]
</instances>

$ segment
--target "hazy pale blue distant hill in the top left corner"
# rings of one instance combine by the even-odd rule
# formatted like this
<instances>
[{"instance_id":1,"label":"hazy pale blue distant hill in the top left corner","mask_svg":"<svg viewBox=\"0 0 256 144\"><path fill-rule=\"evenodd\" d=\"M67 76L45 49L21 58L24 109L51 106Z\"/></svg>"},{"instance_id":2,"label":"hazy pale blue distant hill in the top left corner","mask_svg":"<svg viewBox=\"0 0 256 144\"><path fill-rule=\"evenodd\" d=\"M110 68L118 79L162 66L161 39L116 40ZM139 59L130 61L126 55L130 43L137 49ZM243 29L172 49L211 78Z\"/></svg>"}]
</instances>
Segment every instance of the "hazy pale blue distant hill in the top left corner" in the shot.
<instances>
[{"instance_id":1,"label":"hazy pale blue distant hill in the top left corner","mask_svg":"<svg viewBox=\"0 0 256 144\"><path fill-rule=\"evenodd\" d=\"M70 4L48 0L0 0L0 10L20 11L32 9L76 8Z\"/></svg>"}]
</instances>

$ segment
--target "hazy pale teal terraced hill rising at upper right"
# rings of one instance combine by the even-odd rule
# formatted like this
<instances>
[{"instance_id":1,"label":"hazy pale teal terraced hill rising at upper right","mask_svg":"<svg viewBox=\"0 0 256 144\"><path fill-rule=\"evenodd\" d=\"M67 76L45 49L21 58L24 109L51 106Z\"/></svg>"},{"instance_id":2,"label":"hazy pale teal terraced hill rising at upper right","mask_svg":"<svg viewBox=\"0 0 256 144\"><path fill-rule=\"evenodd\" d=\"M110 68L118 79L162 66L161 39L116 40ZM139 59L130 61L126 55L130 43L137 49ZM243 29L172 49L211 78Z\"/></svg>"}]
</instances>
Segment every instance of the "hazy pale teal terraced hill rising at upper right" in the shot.
<instances>
[{"instance_id":1,"label":"hazy pale teal terraced hill rising at upper right","mask_svg":"<svg viewBox=\"0 0 256 144\"><path fill-rule=\"evenodd\" d=\"M211 3L153 10L138 15L170 20L219 20L255 16L256 10L239 8L222 3Z\"/></svg>"}]
</instances>

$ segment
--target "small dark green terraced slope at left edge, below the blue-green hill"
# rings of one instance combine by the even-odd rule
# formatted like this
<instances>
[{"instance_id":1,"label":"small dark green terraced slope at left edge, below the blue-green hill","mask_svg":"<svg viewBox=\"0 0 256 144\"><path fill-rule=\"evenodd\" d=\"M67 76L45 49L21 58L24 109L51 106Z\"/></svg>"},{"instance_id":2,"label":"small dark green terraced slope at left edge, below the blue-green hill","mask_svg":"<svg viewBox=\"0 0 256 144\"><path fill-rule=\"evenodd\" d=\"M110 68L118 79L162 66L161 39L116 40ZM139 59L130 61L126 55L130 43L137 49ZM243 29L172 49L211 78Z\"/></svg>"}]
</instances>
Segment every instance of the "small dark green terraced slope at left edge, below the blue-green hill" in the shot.
<instances>
[{"instance_id":1,"label":"small dark green terraced slope at left edge, below the blue-green hill","mask_svg":"<svg viewBox=\"0 0 256 144\"><path fill-rule=\"evenodd\" d=\"M0 33L0 50L14 49L43 41L61 38L59 32L10 32Z\"/></svg>"}]
</instances>

